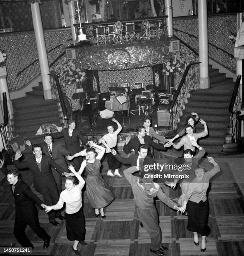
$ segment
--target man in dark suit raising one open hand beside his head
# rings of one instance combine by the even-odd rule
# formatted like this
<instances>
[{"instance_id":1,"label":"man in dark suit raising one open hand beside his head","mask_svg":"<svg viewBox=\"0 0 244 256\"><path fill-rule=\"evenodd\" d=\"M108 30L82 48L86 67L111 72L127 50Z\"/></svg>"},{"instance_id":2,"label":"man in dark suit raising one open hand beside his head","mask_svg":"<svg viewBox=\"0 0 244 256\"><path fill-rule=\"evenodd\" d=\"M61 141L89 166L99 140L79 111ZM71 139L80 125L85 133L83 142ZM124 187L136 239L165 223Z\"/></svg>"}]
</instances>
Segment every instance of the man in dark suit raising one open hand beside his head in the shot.
<instances>
[{"instance_id":1,"label":"man in dark suit raising one open hand beside his head","mask_svg":"<svg viewBox=\"0 0 244 256\"><path fill-rule=\"evenodd\" d=\"M42 156L41 146L34 144L32 146L33 158L28 159L25 162L20 163L18 160L22 154L20 150L16 151L14 165L18 169L29 168L33 175L33 183L37 192L43 195L45 205L56 205L59 199L58 188L51 172L53 167L60 175L69 177L70 174L65 172L59 165L55 164L50 156ZM55 226L59 223L55 220L59 218L64 220L64 217L60 214L60 211L51 211L48 213L49 222Z\"/></svg>"}]
</instances>

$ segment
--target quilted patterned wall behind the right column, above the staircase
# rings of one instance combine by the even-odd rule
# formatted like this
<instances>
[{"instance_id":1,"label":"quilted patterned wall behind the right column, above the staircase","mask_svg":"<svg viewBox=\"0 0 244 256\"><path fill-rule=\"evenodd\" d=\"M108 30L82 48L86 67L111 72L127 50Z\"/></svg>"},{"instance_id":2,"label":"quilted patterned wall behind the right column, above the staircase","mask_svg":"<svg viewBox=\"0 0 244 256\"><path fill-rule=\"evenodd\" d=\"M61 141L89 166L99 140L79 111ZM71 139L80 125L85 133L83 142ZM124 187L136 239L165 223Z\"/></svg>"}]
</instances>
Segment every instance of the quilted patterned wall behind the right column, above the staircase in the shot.
<instances>
[{"instance_id":1,"label":"quilted patterned wall behind the right column, above the staircase","mask_svg":"<svg viewBox=\"0 0 244 256\"><path fill-rule=\"evenodd\" d=\"M178 36L178 38L182 39L193 48L198 49L198 38L194 37L198 37L198 19L196 16L191 18L174 18L173 28L180 30L174 30L175 36ZM236 14L208 16L208 42L213 44L213 46L209 45L208 54L233 71L236 70L236 61L234 59L234 44L229 39L229 36L231 33L236 34L236 28ZM193 36L189 36L184 32Z\"/></svg>"}]
</instances>

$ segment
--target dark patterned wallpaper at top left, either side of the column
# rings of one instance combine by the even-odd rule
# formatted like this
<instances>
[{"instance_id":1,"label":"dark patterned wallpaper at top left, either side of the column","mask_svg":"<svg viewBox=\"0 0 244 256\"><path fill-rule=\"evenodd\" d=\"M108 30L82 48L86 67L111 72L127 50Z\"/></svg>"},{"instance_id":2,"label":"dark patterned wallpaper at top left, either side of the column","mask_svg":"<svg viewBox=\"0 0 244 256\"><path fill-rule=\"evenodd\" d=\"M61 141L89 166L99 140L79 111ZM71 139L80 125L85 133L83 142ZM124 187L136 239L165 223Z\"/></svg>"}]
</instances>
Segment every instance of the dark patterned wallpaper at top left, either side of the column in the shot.
<instances>
[{"instance_id":1,"label":"dark patterned wallpaper at top left, either side of the column","mask_svg":"<svg viewBox=\"0 0 244 256\"><path fill-rule=\"evenodd\" d=\"M1 2L5 28L13 28L13 31L30 31L33 30L32 15L30 5L26 1L18 2ZM60 28L61 10L58 0L43 1L40 4L43 28ZM0 24L0 28L2 24Z\"/></svg>"}]
</instances>

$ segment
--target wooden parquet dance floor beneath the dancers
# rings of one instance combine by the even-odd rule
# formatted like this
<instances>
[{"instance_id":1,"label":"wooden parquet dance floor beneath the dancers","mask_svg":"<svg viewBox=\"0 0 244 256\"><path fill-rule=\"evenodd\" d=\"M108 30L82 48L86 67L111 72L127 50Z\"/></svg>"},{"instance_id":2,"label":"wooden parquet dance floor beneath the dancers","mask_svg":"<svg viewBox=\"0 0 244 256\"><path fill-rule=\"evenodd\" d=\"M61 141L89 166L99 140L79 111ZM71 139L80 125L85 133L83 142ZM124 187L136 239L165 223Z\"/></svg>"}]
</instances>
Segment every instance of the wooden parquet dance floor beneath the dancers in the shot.
<instances>
[{"instance_id":1,"label":"wooden parquet dance floor beneath the dancers","mask_svg":"<svg viewBox=\"0 0 244 256\"><path fill-rule=\"evenodd\" d=\"M156 162L165 163L168 158L157 154ZM218 161L216 159L216 161ZM168 247L166 256L243 256L244 255L244 196L231 171L229 161L221 159L221 172L212 178L208 192L210 205L209 226L211 234L207 237L207 250L202 253L200 246L193 244L192 233L187 230L187 217L179 215L159 200L155 201L159 222L162 230L162 243ZM238 163L237 163L238 164ZM203 165L211 166L206 159ZM10 167L8 166L8 169ZM127 168L122 166L122 169ZM240 161L239 168L243 169ZM109 205L105 214L106 219L96 218L94 210L84 192L84 215L86 219L86 246L78 246L82 256L153 256L150 253L150 237L144 228L140 227L133 194L130 184L119 177L107 177L107 160L103 162L102 175L114 192L116 199ZM121 171L122 173L122 171ZM33 187L30 171L22 172L23 180ZM180 188L173 190L158 180L166 195L177 201ZM64 185L64 184L63 184ZM10 193L10 185L6 178L0 182L0 246L15 246L19 244L13 236L15 206ZM40 196L37 192L36 195ZM41 197L41 196L40 196ZM47 215L39 210L41 226L51 236L48 249L43 249L43 241L30 228L26 228L28 238L35 249L32 255L74 255L71 250L72 242L66 238L65 221L59 226L48 223Z\"/></svg>"}]
</instances>

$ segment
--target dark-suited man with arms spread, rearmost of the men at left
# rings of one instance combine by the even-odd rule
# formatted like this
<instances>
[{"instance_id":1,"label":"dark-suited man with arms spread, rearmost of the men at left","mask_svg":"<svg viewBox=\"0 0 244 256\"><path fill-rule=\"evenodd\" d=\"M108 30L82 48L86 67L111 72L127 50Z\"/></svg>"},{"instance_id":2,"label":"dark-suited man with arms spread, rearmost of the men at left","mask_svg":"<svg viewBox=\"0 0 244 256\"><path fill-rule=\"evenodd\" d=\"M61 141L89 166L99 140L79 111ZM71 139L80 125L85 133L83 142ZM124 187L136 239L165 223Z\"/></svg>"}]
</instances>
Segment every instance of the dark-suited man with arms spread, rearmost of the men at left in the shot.
<instances>
[{"instance_id":1,"label":"dark-suited man with arms spread, rearmost of the men at left","mask_svg":"<svg viewBox=\"0 0 244 256\"><path fill-rule=\"evenodd\" d=\"M53 138L61 138L64 137L66 143L66 149L69 151L71 156L81 151L81 146L79 140L81 140L83 145L86 145L87 139L85 136L81 135L79 130L75 129L75 120L70 119L68 121L69 128L64 128L61 132L51 133ZM79 171L81 163L82 163L82 156L74 158L74 168L76 172Z\"/></svg>"}]
</instances>

